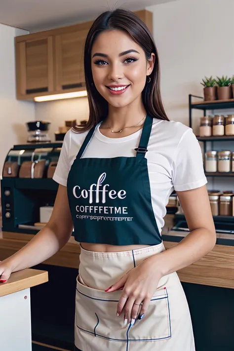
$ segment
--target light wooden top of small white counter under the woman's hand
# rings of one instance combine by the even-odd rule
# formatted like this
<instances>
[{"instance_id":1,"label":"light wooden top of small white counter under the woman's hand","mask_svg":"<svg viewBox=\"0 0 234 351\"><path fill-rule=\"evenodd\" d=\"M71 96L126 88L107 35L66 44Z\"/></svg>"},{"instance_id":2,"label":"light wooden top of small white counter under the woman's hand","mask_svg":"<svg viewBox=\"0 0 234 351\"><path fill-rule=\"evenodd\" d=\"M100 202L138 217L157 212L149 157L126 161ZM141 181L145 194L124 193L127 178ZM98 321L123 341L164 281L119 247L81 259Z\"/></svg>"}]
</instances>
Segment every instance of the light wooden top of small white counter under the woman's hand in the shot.
<instances>
[{"instance_id":1,"label":"light wooden top of small white counter under the woman's hand","mask_svg":"<svg viewBox=\"0 0 234 351\"><path fill-rule=\"evenodd\" d=\"M46 281L48 281L48 273L45 271L26 269L14 272L7 282L0 283L0 296L31 288Z\"/></svg>"}]
</instances>

